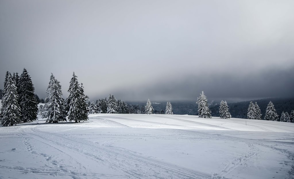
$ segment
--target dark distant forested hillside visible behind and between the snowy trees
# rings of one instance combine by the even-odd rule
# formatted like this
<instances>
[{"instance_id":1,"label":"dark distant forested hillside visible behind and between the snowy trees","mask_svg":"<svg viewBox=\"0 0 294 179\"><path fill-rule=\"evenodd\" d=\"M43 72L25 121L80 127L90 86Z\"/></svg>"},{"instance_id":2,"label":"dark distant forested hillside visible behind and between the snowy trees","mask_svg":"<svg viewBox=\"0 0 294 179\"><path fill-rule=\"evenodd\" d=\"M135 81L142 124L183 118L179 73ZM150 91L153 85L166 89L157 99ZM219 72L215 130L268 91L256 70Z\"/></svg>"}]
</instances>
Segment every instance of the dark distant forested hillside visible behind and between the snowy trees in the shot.
<instances>
[{"instance_id":1,"label":"dark distant forested hillside visible behind and between the snowy trees","mask_svg":"<svg viewBox=\"0 0 294 179\"><path fill-rule=\"evenodd\" d=\"M294 109L294 98L266 98L266 99L258 99L252 100L253 103L257 102L258 106L260 107L262 113L262 119L264 118L265 109L270 101L273 102L275 105L275 109L277 110L278 115L280 116L282 111L291 113L291 110ZM140 105L145 106L146 102L131 102L126 101L127 104L131 105ZM154 108L154 114L160 114L160 111L165 111L166 109L166 102L163 101L152 101L152 106ZM228 103L230 113L234 118L247 118L247 110L250 101L242 101L242 102L235 102L235 103ZM171 101L171 105L173 107L174 114L188 114L188 115L198 115L198 108L196 101L186 101L186 102L178 102L178 101ZM211 116L219 116L219 103L210 103L209 109L211 110Z\"/></svg>"}]
</instances>

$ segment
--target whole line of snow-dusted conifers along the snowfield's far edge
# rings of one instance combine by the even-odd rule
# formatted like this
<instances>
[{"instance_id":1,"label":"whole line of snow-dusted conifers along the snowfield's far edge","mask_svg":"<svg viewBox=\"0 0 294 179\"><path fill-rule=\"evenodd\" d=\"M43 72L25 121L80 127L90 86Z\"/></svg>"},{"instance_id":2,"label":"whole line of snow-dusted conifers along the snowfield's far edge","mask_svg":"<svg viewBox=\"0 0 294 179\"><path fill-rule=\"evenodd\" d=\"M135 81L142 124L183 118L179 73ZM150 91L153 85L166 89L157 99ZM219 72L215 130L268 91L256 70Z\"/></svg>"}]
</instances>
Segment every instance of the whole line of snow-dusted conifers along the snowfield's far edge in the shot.
<instances>
[{"instance_id":1,"label":"whole line of snow-dusted conifers along the snowfield's far edge","mask_svg":"<svg viewBox=\"0 0 294 179\"><path fill-rule=\"evenodd\" d=\"M47 118L48 123L58 123L63 121L86 121L88 114L94 113L118 113L118 114L174 114L171 102L166 103L165 111L154 110L150 99L146 105L140 106L127 104L122 100L116 100L113 94L108 98L96 100L96 103L88 101L88 96L84 94L83 83L79 84L77 76L73 73L68 89L69 96L64 99L62 97L62 87L60 82L51 73L49 85L46 90L46 98L40 99L34 93L34 85L27 70L24 68L23 73L19 76L18 73L6 72L4 89L0 90L2 98L0 124L2 126L12 126L20 122L29 122L37 119L39 112L43 117ZM39 103L44 103L37 108ZM158 104L158 103L155 103ZM211 118L212 112L208 105L208 100L202 91L197 98L197 114L201 118ZM226 101L221 101L218 106L218 116L222 119L232 117ZM215 106L213 110L215 111ZM191 111L190 111L191 112ZM195 114L194 114L195 115ZM214 115L216 116L216 115ZM253 104L251 101L247 110L248 119L262 119L260 107L257 102ZM288 112L282 112L280 118L275 110L273 103L270 101L265 114L264 120L294 122L294 110L289 115Z\"/></svg>"}]
</instances>

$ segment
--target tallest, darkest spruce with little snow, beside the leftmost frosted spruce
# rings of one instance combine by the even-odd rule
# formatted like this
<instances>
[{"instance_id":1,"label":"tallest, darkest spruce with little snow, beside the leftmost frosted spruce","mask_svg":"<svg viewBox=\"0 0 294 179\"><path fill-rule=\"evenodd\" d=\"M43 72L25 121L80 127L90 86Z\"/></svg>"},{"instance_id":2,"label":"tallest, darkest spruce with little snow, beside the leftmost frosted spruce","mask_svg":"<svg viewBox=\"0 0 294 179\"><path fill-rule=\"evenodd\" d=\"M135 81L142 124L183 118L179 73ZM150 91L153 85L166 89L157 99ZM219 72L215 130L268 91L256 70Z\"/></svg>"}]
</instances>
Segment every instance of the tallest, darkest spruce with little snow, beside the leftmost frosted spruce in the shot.
<instances>
[{"instance_id":1,"label":"tallest, darkest spruce with little snow, beside the leftmost frosted spruce","mask_svg":"<svg viewBox=\"0 0 294 179\"><path fill-rule=\"evenodd\" d=\"M38 103L35 99L34 85L27 70L24 68L19 78L19 107L21 120L24 122L37 119Z\"/></svg>"}]
</instances>

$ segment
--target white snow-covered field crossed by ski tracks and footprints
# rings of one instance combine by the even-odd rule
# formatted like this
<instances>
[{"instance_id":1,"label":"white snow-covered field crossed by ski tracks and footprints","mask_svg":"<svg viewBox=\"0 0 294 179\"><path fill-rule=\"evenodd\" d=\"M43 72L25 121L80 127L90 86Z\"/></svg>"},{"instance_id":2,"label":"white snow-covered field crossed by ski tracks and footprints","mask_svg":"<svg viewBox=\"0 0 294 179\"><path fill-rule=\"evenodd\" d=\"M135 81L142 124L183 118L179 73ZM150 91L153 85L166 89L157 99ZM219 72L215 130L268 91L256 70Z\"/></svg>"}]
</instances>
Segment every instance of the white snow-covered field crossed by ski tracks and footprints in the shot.
<instances>
[{"instance_id":1,"label":"white snow-covered field crossed by ski tracks and footprints","mask_svg":"<svg viewBox=\"0 0 294 179\"><path fill-rule=\"evenodd\" d=\"M0 128L0 178L294 178L294 124L91 114Z\"/></svg>"}]
</instances>

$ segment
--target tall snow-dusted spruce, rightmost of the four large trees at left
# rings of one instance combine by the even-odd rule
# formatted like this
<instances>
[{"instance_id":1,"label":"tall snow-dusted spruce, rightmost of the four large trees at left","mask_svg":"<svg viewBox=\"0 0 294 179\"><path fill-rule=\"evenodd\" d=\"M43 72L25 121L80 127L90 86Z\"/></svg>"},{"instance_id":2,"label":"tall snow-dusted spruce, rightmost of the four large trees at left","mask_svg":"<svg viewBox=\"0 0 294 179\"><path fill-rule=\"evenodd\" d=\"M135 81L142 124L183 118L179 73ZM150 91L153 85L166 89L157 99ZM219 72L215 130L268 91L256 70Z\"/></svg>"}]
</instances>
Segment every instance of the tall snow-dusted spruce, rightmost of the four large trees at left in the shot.
<instances>
[{"instance_id":1,"label":"tall snow-dusted spruce, rightmost of the four large trees at left","mask_svg":"<svg viewBox=\"0 0 294 179\"><path fill-rule=\"evenodd\" d=\"M79 86L77 76L73 73L69 85L69 96L66 98L68 106L68 120L69 121L86 121L88 120L87 103L88 96L83 94L83 87Z\"/></svg>"}]
</instances>

